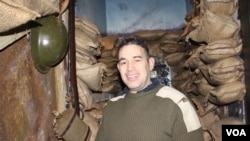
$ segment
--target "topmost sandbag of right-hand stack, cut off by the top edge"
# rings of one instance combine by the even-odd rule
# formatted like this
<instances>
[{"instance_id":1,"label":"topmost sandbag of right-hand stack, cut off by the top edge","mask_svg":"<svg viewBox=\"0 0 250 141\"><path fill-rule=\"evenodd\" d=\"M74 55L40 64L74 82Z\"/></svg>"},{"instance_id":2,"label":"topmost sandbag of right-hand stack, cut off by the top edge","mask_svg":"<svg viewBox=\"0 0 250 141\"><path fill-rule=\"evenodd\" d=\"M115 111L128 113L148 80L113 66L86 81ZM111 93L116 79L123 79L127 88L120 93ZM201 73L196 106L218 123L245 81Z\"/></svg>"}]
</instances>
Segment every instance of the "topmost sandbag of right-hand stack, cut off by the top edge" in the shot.
<instances>
[{"instance_id":1,"label":"topmost sandbag of right-hand stack, cut off by the top edge","mask_svg":"<svg viewBox=\"0 0 250 141\"><path fill-rule=\"evenodd\" d=\"M233 15L238 8L238 0L201 0L201 9L216 14Z\"/></svg>"}]
</instances>

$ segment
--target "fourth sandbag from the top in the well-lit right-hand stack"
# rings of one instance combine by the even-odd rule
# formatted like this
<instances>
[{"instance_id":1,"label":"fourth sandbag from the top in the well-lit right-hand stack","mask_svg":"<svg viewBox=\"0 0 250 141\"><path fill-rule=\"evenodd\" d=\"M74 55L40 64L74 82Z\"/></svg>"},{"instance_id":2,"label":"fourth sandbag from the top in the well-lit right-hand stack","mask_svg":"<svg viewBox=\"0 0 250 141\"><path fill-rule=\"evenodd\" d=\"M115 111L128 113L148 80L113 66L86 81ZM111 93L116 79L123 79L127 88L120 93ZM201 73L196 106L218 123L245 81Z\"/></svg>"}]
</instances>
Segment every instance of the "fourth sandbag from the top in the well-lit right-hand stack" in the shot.
<instances>
[{"instance_id":1,"label":"fourth sandbag from the top in the well-lit right-hand stack","mask_svg":"<svg viewBox=\"0 0 250 141\"><path fill-rule=\"evenodd\" d=\"M244 62L238 56L222 59L199 69L212 85L222 85L244 77Z\"/></svg>"}]
</instances>

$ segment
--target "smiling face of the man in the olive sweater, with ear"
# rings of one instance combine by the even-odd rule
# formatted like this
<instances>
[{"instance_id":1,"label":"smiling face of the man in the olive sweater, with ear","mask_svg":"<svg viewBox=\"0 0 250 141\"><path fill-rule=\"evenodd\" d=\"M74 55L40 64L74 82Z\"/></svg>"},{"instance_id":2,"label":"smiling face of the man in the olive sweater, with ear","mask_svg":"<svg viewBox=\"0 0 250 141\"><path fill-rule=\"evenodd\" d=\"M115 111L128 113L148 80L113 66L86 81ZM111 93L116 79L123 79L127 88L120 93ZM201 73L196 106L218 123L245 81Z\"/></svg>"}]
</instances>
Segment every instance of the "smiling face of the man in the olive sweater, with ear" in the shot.
<instances>
[{"instance_id":1,"label":"smiling face of the man in the olive sweater, with ear","mask_svg":"<svg viewBox=\"0 0 250 141\"><path fill-rule=\"evenodd\" d=\"M148 58L142 47L126 45L120 49L118 56L118 70L131 93L136 93L151 83L150 72L154 67L154 59Z\"/></svg>"}]
</instances>

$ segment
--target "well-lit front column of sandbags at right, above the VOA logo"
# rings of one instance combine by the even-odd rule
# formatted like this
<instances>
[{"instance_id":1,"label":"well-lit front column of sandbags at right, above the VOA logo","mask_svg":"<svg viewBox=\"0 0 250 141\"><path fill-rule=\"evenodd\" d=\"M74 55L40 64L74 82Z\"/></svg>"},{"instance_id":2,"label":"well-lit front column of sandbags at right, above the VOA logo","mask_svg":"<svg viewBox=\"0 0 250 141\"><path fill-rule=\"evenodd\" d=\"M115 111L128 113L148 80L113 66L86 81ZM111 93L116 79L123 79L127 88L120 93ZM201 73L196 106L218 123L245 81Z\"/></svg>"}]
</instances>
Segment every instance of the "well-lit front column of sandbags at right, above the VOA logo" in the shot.
<instances>
[{"instance_id":1,"label":"well-lit front column of sandbags at right, above the VOA logo","mask_svg":"<svg viewBox=\"0 0 250 141\"><path fill-rule=\"evenodd\" d=\"M217 105L243 100L246 93L244 62L240 57L240 25L233 17L236 9L236 0L201 0L201 14L190 21L196 26L186 36L186 41L191 39L200 43L194 49L198 54L192 53L185 62L186 67L195 70L196 74L201 73L207 81L203 82L214 87L208 99ZM193 62L199 65L194 67Z\"/></svg>"}]
</instances>

